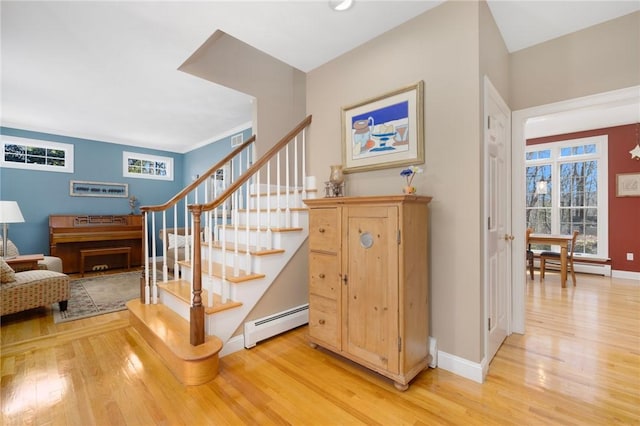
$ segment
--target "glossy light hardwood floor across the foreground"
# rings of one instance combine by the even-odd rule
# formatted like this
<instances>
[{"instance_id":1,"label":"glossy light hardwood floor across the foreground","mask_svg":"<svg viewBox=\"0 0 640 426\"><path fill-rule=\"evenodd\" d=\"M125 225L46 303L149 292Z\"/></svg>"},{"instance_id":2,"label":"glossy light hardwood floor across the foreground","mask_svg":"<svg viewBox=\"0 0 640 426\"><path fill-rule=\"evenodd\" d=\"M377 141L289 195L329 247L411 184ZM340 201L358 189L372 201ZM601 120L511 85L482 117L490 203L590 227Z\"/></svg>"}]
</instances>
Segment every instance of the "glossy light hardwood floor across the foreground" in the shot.
<instances>
[{"instance_id":1,"label":"glossy light hardwood floor across the foreground","mask_svg":"<svg viewBox=\"0 0 640 426\"><path fill-rule=\"evenodd\" d=\"M406 392L305 341L306 326L220 361L185 388L118 312L55 325L2 318L2 424L640 424L640 284L557 274L527 284L527 332L478 384L441 369Z\"/></svg>"}]
</instances>

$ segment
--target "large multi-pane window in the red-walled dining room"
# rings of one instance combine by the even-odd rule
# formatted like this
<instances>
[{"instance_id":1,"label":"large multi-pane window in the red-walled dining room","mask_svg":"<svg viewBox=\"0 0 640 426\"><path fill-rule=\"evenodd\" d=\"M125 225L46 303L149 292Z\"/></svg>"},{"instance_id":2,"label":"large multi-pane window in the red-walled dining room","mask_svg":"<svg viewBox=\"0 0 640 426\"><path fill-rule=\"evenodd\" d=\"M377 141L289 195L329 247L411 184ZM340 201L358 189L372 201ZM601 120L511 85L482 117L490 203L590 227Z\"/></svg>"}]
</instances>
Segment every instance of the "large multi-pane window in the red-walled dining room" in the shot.
<instances>
[{"instance_id":1,"label":"large multi-pane window in the red-walled dining room","mask_svg":"<svg viewBox=\"0 0 640 426\"><path fill-rule=\"evenodd\" d=\"M607 149L607 136L527 146L527 227L545 234L577 230L575 253L608 257Z\"/></svg>"}]
</instances>

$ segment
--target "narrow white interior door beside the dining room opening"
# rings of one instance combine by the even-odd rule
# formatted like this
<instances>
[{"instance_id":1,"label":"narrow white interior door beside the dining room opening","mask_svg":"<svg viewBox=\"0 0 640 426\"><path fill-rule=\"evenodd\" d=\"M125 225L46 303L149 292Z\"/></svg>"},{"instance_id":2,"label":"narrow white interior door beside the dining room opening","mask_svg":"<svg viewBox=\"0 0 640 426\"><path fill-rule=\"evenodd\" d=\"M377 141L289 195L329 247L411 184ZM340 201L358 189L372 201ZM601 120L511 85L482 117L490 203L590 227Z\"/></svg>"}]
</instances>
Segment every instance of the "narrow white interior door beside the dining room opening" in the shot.
<instances>
[{"instance_id":1,"label":"narrow white interior door beside the dining room opening","mask_svg":"<svg viewBox=\"0 0 640 426\"><path fill-rule=\"evenodd\" d=\"M485 77L487 363L509 333L511 276L510 111Z\"/></svg>"}]
</instances>

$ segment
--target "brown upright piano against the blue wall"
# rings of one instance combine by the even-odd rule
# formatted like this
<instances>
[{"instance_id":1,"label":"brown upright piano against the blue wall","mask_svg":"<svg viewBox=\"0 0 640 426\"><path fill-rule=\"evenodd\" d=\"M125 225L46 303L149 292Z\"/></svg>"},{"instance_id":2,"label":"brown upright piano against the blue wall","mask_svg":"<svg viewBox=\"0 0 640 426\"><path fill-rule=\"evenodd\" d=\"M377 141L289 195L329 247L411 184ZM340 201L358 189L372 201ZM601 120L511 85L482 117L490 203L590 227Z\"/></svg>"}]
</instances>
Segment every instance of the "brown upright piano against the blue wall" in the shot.
<instances>
[{"instance_id":1,"label":"brown upright piano against the blue wall","mask_svg":"<svg viewBox=\"0 0 640 426\"><path fill-rule=\"evenodd\" d=\"M131 266L140 266L143 237L141 215L49 216L50 253L62 259L64 273L81 272L80 250L84 249L130 247ZM126 257L112 254L88 258L85 270L123 267L127 267Z\"/></svg>"}]
</instances>

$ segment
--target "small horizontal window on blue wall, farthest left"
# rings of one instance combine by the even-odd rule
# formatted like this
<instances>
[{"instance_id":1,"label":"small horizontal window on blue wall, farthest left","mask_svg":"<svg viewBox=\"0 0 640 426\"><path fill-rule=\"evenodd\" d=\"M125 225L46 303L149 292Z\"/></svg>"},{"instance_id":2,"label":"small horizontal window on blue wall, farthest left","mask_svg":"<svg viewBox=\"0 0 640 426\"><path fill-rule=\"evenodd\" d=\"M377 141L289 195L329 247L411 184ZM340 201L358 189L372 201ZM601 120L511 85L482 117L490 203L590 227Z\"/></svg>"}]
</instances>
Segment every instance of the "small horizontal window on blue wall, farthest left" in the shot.
<instances>
[{"instance_id":1,"label":"small horizontal window on blue wall, farthest left","mask_svg":"<svg viewBox=\"0 0 640 426\"><path fill-rule=\"evenodd\" d=\"M2 167L73 173L73 145L2 135Z\"/></svg>"}]
</instances>

